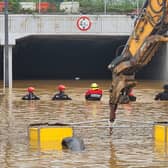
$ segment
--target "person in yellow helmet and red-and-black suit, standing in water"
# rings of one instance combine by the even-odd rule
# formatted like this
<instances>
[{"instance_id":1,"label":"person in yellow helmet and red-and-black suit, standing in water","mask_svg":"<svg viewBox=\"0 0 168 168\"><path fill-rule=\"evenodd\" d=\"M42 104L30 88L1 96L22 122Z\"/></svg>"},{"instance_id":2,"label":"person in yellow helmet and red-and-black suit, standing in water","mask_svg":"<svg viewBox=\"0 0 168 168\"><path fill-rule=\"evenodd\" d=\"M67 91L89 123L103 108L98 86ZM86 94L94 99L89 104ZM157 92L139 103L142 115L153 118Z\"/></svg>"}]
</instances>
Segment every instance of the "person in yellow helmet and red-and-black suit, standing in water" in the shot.
<instances>
[{"instance_id":1,"label":"person in yellow helmet and red-and-black suit, standing in water","mask_svg":"<svg viewBox=\"0 0 168 168\"><path fill-rule=\"evenodd\" d=\"M85 93L86 100L101 100L102 98L102 89L99 88L97 83L92 83L90 89Z\"/></svg>"}]
</instances>

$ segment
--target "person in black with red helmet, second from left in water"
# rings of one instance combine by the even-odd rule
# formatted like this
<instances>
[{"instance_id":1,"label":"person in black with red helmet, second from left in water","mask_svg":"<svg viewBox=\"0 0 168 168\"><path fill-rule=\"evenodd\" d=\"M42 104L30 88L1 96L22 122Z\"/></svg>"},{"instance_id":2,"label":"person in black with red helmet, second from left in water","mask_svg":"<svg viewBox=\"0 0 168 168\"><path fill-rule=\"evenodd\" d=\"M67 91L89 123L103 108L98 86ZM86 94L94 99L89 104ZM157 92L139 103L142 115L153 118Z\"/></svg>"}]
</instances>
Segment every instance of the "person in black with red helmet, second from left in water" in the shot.
<instances>
[{"instance_id":1,"label":"person in black with red helmet, second from left in water","mask_svg":"<svg viewBox=\"0 0 168 168\"><path fill-rule=\"evenodd\" d=\"M65 94L66 87L64 85L58 86L59 93L56 93L52 100L72 100L67 94Z\"/></svg>"}]
</instances>

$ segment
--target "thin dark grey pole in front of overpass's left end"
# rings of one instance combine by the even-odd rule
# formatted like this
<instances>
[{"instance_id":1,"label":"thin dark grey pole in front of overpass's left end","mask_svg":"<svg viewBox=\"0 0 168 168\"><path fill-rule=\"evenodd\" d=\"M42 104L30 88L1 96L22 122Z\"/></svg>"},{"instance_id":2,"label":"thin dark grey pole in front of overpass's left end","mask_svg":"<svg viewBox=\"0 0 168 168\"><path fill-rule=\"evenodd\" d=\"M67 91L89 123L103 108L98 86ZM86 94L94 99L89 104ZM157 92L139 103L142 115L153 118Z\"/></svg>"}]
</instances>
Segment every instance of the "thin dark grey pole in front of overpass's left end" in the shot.
<instances>
[{"instance_id":1,"label":"thin dark grey pole in front of overpass's left end","mask_svg":"<svg viewBox=\"0 0 168 168\"><path fill-rule=\"evenodd\" d=\"M9 48L9 39L8 39L8 0L4 0L4 21L5 21L5 42L4 42L4 87L9 87L9 72L8 72L8 48Z\"/></svg>"}]
</instances>

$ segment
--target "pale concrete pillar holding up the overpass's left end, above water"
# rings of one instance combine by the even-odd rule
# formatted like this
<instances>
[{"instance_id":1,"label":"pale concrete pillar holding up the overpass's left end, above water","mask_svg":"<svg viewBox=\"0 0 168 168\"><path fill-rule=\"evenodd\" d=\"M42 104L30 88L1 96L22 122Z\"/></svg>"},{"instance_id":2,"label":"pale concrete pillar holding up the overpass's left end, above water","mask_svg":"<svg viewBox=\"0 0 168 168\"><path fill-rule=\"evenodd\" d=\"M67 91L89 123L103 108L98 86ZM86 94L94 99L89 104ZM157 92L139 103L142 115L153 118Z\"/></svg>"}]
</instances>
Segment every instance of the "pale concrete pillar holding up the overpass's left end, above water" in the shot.
<instances>
[{"instance_id":1,"label":"pale concrete pillar holding up the overpass's left end, above water","mask_svg":"<svg viewBox=\"0 0 168 168\"><path fill-rule=\"evenodd\" d=\"M12 88L12 45L8 46L8 54L5 56L5 47L3 52L3 82L4 87L6 88Z\"/></svg>"}]
</instances>

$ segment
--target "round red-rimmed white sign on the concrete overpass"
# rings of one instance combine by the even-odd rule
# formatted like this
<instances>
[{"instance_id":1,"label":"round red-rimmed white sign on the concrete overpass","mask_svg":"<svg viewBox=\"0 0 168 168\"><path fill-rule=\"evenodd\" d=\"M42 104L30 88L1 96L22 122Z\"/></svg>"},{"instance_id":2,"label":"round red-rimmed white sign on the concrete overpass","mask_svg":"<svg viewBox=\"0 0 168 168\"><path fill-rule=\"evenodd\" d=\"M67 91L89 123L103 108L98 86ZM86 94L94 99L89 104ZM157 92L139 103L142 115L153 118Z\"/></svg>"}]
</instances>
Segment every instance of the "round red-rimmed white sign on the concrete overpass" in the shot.
<instances>
[{"instance_id":1,"label":"round red-rimmed white sign on the concrete overpass","mask_svg":"<svg viewBox=\"0 0 168 168\"><path fill-rule=\"evenodd\" d=\"M77 20L77 27L81 31L87 31L87 30L89 30L90 27L91 27L91 24L92 24L91 20L87 16L81 16Z\"/></svg>"}]
</instances>

